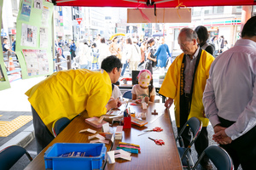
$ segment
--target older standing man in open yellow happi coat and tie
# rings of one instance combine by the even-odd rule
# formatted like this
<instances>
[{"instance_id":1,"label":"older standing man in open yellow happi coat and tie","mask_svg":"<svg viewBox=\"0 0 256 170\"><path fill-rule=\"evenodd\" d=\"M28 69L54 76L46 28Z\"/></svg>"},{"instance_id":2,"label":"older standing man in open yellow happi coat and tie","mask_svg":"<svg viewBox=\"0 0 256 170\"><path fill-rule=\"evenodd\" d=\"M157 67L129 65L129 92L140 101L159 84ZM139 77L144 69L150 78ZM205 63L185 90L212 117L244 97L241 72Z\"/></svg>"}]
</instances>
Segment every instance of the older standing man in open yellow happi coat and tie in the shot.
<instances>
[{"instance_id":1,"label":"older standing man in open yellow happi coat and tie","mask_svg":"<svg viewBox=\"0 0 256 170\"><path fill-rule=\"evenodd\" d=\"M214 58L198 46L197 34L190 28L183 28L177 41L183 54L178 55L173 61L159 93L168 98L165 104L167 108L171 107L174 100L177 132L180 132L192 116L199 118L203 123L201 133L195 141L195 150L200 156L208 146L209 120L204 113L202 97ZM185 128L182 137L187 147L191 139L188 127ZM201 166L205 169L212 168L207 157L201 161Z\"/></svg>"}]
</instances>

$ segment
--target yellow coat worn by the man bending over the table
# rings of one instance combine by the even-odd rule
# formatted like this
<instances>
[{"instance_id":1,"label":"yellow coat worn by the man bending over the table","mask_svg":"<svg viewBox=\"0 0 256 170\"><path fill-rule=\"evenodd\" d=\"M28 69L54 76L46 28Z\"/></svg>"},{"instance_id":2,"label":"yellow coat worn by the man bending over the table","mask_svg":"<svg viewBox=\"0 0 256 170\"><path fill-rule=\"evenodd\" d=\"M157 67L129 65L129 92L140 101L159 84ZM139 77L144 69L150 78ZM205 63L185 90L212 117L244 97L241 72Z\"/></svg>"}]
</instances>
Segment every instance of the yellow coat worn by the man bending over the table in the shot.
<instances>
[{"instance_id":1,"label":"yellow coat worn by the man bending over the table","mask_svg":"<svg viewBox=\"0 0 256 170\"><path fill-rule=\"evenodd\" d=\"M84 110L88 116L102 116L111 97L111 80L106 71L85 69L58 71L30 88L26 95L51 132L52 123Z\"/></svg>"}]
</instances>

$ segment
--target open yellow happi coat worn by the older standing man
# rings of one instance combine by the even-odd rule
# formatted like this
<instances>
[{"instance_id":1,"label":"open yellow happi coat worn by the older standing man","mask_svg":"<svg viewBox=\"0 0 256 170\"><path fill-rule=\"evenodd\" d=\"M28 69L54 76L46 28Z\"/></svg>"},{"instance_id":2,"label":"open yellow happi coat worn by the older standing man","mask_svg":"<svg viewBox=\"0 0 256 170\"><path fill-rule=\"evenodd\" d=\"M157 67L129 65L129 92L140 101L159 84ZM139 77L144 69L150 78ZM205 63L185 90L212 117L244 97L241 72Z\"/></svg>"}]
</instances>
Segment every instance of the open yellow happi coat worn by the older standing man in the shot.
<instances>
[{"instance_id":1,"label":"open yellow happi coat worn by the older standing man","mask_svg":"<svg viewBox=\"0 0 256 170\"><path fill-rule=\"evenodd\" d=\"M209 70L214 58L211 54L208 54L205 50L201 52L201 59L195 72L194 89L192 94L192 103L190 108L189 117L195 116L201 119L203 127L207 127L209 120L204 116L204 106L202 103L203 92L207 84L207 78L209 77ZM177 56L174 59L172 65L169 67L166 78L162 83L159 93L174 99L175 105L175 118L177 127L180 127L180 72L183 62L183 54Z\"/></svg>"}]
</instances>

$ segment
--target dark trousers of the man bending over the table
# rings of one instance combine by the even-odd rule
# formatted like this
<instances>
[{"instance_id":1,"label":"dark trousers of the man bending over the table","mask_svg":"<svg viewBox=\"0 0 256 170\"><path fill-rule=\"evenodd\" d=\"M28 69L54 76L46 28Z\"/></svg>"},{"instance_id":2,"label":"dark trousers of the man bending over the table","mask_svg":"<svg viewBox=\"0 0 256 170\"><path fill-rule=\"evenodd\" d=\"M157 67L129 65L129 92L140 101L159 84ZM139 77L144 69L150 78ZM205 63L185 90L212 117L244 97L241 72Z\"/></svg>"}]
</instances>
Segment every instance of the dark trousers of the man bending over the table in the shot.
<instances>
[{"instance_id":1,"label":"dark trousers of the man bending over the table","mask_svg":"<svg viewBox=\"0 0 256 170\"><path fill-rule=\"evenodd\" d=\"M32 107L32 106L31 106ZM35 137L37 141L38 154L44 150L44 148L53 140L55 137L49 132L49 129L44 125L42 119L38 116L37 111L32 107L33 126L35 131Z\"/></svg>"}]
</instances>

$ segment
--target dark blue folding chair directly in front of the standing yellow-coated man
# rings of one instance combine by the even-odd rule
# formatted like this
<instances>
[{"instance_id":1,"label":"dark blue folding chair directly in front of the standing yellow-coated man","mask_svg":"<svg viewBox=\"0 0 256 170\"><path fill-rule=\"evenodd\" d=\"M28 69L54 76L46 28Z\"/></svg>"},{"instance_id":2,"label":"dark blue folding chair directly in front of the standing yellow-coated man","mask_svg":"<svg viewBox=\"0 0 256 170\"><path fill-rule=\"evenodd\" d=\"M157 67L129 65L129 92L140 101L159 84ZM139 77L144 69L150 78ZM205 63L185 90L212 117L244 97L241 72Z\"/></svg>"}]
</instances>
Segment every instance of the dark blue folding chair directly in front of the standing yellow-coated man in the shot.
<instances>
[{"instance_id":1,"label":"dark blue folding chair directly in front of the standing yellow-coated man","mask_svg":"<svg viewBox=\"0 0 256 170\"><path fill-rule=\"evenodd\" d=\"M189 132L191 133L192 139L189 143L189 146L187 148L185 148L181 135L182 135L185 127L187 127L187 126L189 127ZM197 139L198 135L201 133L201 127L202 127L201 120L199 120L196 117L191 117L189 119L189 121L187 121L186 124L183 126L183 128L181 129L180 133L178 133L177 138L176 138L176 141L177 141L177 139L180 139L180 141L181 141L180 147L177 147L177 150L178 150L179 156L181 158L183 167L186 167L188 169L190 169L190 167L193 167L193 165L194 165L194 162L193 162L193 159L192 159L192 156L191 156L189 150L190 150L191 146L195 143L195 139Z\"/></svg>"}]
</instances>

